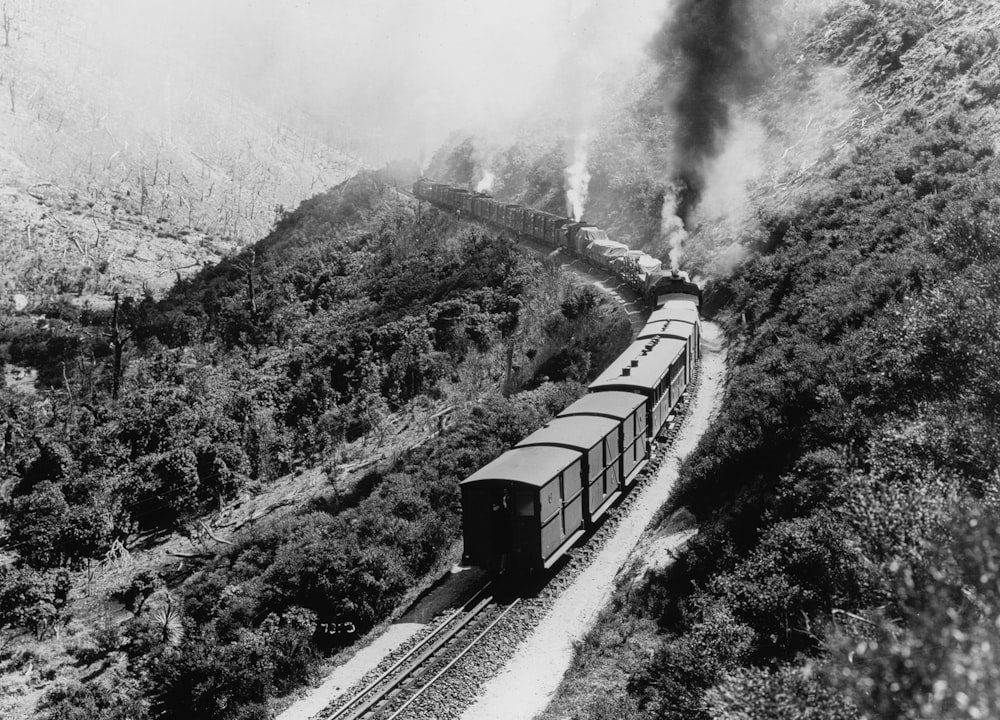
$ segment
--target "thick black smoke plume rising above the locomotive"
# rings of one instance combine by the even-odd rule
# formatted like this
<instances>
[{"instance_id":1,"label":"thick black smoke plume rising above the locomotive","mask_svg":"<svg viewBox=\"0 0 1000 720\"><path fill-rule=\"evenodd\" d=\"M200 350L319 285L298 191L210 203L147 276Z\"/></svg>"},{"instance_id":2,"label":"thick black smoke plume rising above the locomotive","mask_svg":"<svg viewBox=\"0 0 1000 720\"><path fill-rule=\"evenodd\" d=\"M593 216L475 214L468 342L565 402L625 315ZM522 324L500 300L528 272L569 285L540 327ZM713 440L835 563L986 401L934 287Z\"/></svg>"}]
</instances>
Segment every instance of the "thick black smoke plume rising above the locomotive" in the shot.
<instances>
[{"instance_id":1,"label":"thick black smoke plume rising above the locomotive","mask_svg":"<svg viewBox=\"0 0 1000 720\"><path fill-rule=\"evenodd\" d=\"M676 123L677 215L689 229L705 190L706 165L722 152L731 104L771 71L772 5L771 0L679 0L654 38Z\"/></svg>"}]
</instances>

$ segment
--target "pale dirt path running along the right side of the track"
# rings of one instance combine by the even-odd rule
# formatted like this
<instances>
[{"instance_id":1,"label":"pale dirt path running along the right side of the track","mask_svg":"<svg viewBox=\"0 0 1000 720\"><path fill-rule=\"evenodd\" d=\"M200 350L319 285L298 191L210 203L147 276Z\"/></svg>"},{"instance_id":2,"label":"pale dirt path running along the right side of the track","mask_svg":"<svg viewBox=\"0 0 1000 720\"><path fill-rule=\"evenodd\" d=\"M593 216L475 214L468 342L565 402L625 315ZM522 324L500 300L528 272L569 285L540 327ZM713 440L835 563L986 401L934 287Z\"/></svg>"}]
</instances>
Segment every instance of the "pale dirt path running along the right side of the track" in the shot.
<instances>
[{"instance_id":1,"label":"pale dirt path running along the right side of the track","mask_svg":"<svg viewBox=\"0 0 1000 720\"><path fill-rule=\"evenodd\" d=\"M667 500L681 461L694 450L722 400L726 356L722 334L713 323L704 323L703 330L701 385L691 415L661 466L656 482L644 488L614 538L556 601L551 613L521 645L506 669L484 685L479 700L465 712L463 720L531 718L545 710L573 659L573 644L586 635L610 599L622 568L639 560L636 550L646 526ZM692 534L685 530L660 538L652 548L655 552L647 552L650 543L643 543L642 555L647 559L650 555L666 559L671 550Z\"/></svg>"}]
</instances>

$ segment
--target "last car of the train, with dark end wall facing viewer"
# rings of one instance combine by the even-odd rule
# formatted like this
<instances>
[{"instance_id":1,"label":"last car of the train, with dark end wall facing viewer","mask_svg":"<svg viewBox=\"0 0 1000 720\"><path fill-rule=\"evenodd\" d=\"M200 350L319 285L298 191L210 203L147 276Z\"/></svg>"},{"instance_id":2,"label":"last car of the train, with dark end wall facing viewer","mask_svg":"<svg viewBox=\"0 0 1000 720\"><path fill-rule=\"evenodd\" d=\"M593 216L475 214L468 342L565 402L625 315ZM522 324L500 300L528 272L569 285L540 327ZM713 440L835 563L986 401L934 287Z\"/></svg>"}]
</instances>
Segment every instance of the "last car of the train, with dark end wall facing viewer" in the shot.
<instances>
[{"instance_id":1,"label":"last car of the train, with dark end wall facing viewer","mask_svg":"<svg viewBox=\"0 0 1000 720\"><path fill-rule=\"evenodd\" d=\"M462 562L493 572L552 567L584 533L583 458L561 447L517 447L459 483Z\"/></svg>"}]
</instances>

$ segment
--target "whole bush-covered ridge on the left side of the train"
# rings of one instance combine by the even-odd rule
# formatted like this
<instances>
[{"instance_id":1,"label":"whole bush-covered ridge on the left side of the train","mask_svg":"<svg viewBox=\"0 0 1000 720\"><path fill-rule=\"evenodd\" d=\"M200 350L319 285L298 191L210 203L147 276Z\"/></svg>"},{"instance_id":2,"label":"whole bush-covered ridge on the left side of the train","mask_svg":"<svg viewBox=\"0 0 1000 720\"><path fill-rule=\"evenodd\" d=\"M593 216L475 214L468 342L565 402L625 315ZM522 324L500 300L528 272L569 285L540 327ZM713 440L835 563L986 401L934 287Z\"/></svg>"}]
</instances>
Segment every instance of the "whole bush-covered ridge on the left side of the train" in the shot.
<instances>
[{"instance_id":1,"label":"whole bush-covered ridge on the left side of the train","mask_svg":"<svg viewBox=\"0 0 1000 720\"><path fill-rule=\"evenodd\" d=\"M356 639L323 623L363 632L454 562L458 480L630 338L597 290L370 174L163 300L47 316L2 336L39 382L3 395L0 669L8 709L62 680L52 719L260 717ZM207 524L312 466L284 513ZM178 533L180 568L154 552Z\"/></svg>"}]
</instances>

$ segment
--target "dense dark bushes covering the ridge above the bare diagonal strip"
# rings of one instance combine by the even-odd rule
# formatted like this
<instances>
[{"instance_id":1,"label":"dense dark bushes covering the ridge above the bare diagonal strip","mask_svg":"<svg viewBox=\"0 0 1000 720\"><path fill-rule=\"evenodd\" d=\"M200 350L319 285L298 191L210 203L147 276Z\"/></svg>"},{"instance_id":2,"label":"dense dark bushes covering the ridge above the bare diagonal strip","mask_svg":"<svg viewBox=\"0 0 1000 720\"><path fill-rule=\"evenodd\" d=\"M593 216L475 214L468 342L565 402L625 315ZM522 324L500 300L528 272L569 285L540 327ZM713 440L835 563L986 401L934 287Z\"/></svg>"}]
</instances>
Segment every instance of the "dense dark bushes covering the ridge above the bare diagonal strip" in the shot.
<instances>
[{"instance_id":1,"label":"dense dark bushes covering the ridge above the bare diagonal strip","mask_svg":"<svg viewBox=\"0 0 1000 720\"><path fill-rule=\"evenodd\" d=\"M61 335L11 327L15 359L65 389L30 428L34 447L8 446L18 482L5 514L21 556L36 567L100 557L135 530L176 526L296 458L381 436L390 413L440 395L470 353L538 322L522 317L522 297L541 268L512 241L391 197L376 176L360 175L164 300L126 298L117 402L108 317L54 309L76 343L55 354L17 347ZM581 337L605 337L609 352L620 338L601 331L621 318L603 303L592 309L597 319L580 319L589 324ZM566 321L558 336L573 327ZM575 366L574 379L591 367L586 358ZM507 390L531 378L514 380ZM22 417L12 408L8 427Z\"/></svg>"}]
</instances>

